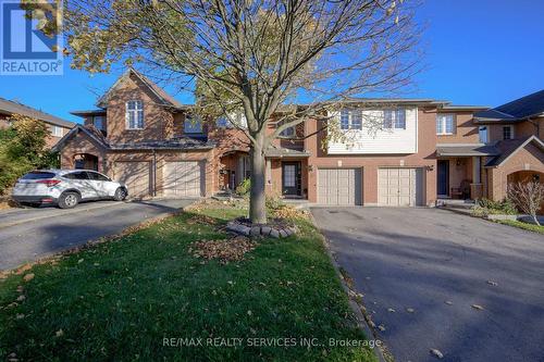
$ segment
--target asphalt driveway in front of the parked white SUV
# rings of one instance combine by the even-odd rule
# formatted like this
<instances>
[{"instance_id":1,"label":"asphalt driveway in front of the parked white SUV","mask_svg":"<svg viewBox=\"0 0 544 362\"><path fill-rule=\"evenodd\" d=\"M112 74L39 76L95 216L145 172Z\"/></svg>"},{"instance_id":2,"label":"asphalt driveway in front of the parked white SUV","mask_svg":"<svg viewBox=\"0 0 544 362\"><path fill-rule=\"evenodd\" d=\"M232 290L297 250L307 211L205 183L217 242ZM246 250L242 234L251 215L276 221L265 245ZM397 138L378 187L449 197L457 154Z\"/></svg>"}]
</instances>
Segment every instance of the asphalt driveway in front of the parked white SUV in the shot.
<instances>
[{"instance_id":1,"label":"asphalt driveway in front of the parked white SUV","mask_svg":"<svg viewBox=\"0 0 544 362\"><path fill-rule=\"evenodd\" d=\"M194 202L149 200L82 203L72 210L16 209L0 212L0 270L83 245Z\"/></svg>"}]
</instances>

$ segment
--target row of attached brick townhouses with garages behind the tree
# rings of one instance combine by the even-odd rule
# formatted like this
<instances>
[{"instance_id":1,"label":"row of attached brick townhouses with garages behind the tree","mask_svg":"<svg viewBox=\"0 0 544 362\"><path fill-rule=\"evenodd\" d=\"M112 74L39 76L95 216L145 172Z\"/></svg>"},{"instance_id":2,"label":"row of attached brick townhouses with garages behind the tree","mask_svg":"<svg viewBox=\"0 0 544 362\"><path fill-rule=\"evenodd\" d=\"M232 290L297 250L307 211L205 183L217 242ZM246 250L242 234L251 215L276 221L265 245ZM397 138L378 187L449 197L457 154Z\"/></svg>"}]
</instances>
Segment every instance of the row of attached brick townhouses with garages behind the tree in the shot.
<instances>
[{"instance_id":1,"label":"row of attached brick townhouses with garages behind the tree","mask_svg":"<svg viewBox=\"0 0 544 362\"><path fill-rule=\"evenodd\" d=\"M224 117L201 123L190 111L131 68L97 109L73 112L84 125L57 145L62 167L103 172L125 182L133 197L234 189L251 172L246 137ZM323 147L325 121L285 130L265 153L269 195L320 204L433 205L438 198L502 199L508 183L544 176L544 91L495 109L354 99L330 116L350 141ZM368 117L382 120L380 126L367 129Z\"/></svg>"}]
</instances>

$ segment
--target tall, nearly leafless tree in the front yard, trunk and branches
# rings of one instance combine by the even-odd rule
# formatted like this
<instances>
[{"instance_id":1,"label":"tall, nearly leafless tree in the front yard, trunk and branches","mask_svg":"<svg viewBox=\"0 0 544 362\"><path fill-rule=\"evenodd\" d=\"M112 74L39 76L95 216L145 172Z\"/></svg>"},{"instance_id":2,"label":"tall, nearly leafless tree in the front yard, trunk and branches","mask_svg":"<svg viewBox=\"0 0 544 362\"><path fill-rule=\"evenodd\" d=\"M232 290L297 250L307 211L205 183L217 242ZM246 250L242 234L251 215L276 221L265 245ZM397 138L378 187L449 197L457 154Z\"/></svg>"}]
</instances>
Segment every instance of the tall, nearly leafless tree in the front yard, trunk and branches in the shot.
<instances>
[{"instance_id":1,"label":"tall, nearly leafless tree in the front yard, trunk and branches","mask_svg":"<svg viewBox=\"0 0 544 362\"><path fill-rule=\"evenodd\" d=\"M145 66L198 84L202 114L243 113L247 125L231 121L250 143L250 217L265 223L271 141L337 101L404 86L419 60L413 11L403 0L66 0L63 26L73 67ZM279 107L300 101L267 135Z\"/></svg>"}]
</instances>

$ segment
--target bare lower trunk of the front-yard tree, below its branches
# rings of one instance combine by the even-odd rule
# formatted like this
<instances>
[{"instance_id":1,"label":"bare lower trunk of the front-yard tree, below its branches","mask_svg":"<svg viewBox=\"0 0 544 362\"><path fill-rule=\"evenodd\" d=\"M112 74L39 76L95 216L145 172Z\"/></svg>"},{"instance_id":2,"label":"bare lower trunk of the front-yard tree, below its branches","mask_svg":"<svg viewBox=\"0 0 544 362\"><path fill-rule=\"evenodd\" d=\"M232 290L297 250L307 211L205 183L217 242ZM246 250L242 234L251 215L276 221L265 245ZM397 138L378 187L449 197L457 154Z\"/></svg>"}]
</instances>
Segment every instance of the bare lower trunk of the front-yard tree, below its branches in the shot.
<instances>
[{"instance_id":1,"label":"bare lower trunk of the front-yard tree, below its branches","mask_svg":"<svg viewBox=\"0 0 544 362\"><path fill-rule=\"evenodd\" d=\"M267 205L264 195L265 160L263 141L257 139L257 145L251 145L251 190L249 194L249 219L256 224L267 223Z\"/></svg>"}]
</instances>

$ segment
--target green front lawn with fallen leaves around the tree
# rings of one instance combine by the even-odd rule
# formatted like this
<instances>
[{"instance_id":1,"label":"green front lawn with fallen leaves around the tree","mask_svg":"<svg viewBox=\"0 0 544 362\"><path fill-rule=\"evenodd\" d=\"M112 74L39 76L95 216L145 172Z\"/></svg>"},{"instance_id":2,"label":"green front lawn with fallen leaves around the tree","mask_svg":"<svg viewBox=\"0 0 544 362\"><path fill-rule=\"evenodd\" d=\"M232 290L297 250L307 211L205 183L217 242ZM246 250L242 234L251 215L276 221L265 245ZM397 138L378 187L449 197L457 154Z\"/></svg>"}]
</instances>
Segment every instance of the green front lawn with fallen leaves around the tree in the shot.
<instances>
[{"instance_id":1,"label":"green front lawn with fallen leaves around the tree","mask_svg":"<svg viewBox=\"0 0 544 362\"><path fill-rule=\"evenodd\" d=\"M244 211L194 213L226 223ZM330 338L364 336L310 222L297 221L297 237L262 239L245 260L221 264L189 252L194 241L226 237L214 226L187 223L193 216L0 280L0 360L12 353L20 361L375 360L367 348L329 346ZM27 273L35 277L23 282ZM20 296L24 300L10 305ZM164 346L165 338L207 345L217 337L243 340L237 347ZM299 338L316 338L314 346L300 347Z\"/></svg>"}]
</instances>

